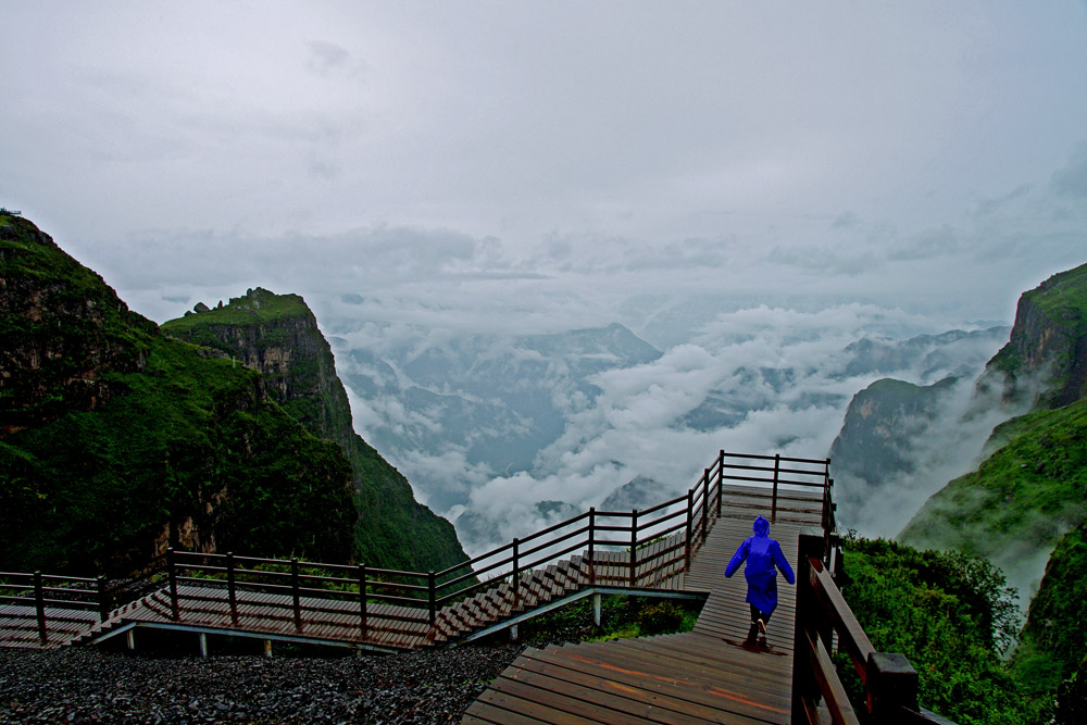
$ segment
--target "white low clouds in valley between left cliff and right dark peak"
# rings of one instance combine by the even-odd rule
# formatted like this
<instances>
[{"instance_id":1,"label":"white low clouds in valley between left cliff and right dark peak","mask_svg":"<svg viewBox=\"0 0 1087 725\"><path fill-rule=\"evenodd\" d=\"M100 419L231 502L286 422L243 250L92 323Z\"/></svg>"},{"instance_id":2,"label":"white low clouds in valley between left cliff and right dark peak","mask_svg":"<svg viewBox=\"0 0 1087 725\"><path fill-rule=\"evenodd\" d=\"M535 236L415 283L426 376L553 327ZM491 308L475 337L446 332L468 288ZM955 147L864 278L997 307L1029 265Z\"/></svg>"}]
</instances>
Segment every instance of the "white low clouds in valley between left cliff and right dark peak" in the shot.
<instances>
[{"instance_id":1,"label":"white low clouds in valley between left cliff and right dark peak","mask_svg":"<svg viewBox=\"0 0 1087 725\"><path fill-rule=\"evenodd\" d=\"M386 308L366 298L351 309L358 321ZM474 329L486 320L484 315L473 323L462 310L448 312ZM430 323L442 314L429 315ZM347 348L365 349L388 361L390 371L403 360L425 357L427 350L470 355L466 365L472 360L483 365L489 358L507 359L504 352L493 357L505 350L501 336L465 337L464 330L428 327L425 318L413 324L366 323L335 334L343 337ZM876 335L892 345L919 332L942 332L933 329L932 321L923 316L860 304L812 312L760 305L723 313L695 327L698 332L687 342L672 346L652 362L586 378L595 390L591 397L560 383L552 402L561 411L562 429L536 452L530 465L516 472L492 470L454 442L380 450L436 510L464 516L458 530L468 551L480 552L550 523L554 512L541 511L537 507L541 501L586 510L638 476L659 482L661 500L682 495L719 448L821 458L829 450L852 395L886 374L884 370L849 373L855 359L850 343ZM946 358L917 353L895 372L927 384L961 364L961 354L973 355L980 365L997 347L992 340L988 341L992 349L980 341L971 345L976 348L973 352L964 348ZM372 363L366 364L368 379L377 379ZM402 386L413 385L411 380L383 375L391 385L385 392L352 399L359 411L357 427L364 436L395 438L405 426L422 429L421 418L435 424L429 415L403 407ZM446 379L440 392L464 396L465 383ZM455 418L442 421L441 425L457 425ZM448 428L443 433L450 441L460 435ZM491 433L501 437L503 432ZM507 433L512 441L516 432ZM914 501L914 509L921 500Z\"/></svg>"}]
</instances>

